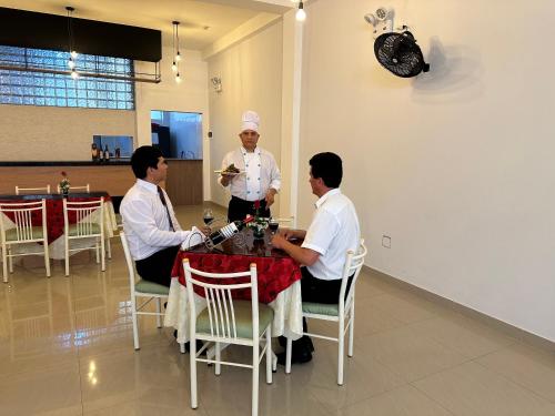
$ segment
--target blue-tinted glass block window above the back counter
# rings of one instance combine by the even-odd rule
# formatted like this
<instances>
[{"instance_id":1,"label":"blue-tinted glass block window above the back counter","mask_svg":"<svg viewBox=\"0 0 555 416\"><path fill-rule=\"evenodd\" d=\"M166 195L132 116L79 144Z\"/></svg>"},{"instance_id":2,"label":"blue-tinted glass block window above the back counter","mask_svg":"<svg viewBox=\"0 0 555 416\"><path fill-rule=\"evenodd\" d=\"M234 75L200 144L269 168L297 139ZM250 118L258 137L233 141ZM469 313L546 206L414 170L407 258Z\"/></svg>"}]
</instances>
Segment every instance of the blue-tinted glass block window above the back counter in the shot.
<instances>
[{"instance_id":1,"label":"blue-tinted glass block window above the back counter","mask_svg":"<svg viewBox=\"0 0 555 416\"><path fill-rule=\"evenodd\" d=\"M0 65L69 71L69 53L0 45ZM133 77L133 61L79 54L78 72ZM133 81L0 69L0 104L134 109Z\"/></svg>"}]
</instances>

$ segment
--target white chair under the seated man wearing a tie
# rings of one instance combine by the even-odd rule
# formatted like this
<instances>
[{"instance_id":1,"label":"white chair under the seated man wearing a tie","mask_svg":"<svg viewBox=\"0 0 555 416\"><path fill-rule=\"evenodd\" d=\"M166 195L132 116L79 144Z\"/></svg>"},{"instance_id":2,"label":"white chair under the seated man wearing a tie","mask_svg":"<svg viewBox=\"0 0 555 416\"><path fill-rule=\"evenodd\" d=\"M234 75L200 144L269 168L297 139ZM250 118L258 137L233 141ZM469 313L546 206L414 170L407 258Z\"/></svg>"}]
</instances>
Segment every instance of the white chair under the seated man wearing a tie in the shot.
<instances>
[{"instance_id":1,"label":"white chair under the seated man wearing a tie","mask_svg":"<svg viewBox=\"0 0 555 416\"><path fill-rule=\"evenodd\" d=\"M137 277L134 262L131 258L131 252L129 251L128 240L125 239L125 233L120 232L121 245L123 246L123 253L125 254L125 263L128 265L129 272L129 287L131 291L131 312L133 319L133 345L135 349L141 346L139 344L139 321L137 315L155 315L157 326L162 327L162 300L168 298L170 293L170 287L144 281ZM139 306L137 305L138 297L147 297ZM141 300L142 301L142 300ZM147 312L143 308L152 301L155 301L157 312ZM180 344L181 352L184 353L184 344Z\"/></svg>"}]
</instances>

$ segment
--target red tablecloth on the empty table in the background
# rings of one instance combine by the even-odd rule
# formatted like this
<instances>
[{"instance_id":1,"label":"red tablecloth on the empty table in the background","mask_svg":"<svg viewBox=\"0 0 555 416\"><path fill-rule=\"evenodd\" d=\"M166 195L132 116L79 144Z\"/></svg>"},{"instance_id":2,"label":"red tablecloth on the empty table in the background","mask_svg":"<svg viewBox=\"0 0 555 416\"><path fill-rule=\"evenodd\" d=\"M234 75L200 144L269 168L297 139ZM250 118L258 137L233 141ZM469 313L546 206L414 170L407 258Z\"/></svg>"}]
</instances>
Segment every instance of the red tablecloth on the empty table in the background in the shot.
<instances>
[{"instance_id":1,"label":"red tablecloth on the empty table in the background","mask_svg":"<svg viewBox=\"0 0 555 416\"><path fill-rule=\"evenodd\" d=\"M70 202L85 202L85 201L98 201L99 197L68 197ZM40 201L40 200L39 200ZM104 196L104 201L110 201L110 196ZM26 202L34 202L30 200L0 200L0 203L26 203ZM59 239L63 235L63 200L62 199L52 199L47 200L47 234L48 234L48 243L52 243L54 240ZM6 213L6 215L14 221L14 215L12 213ZM77 217L74 212L68 212L68 220L70 224L74 224L77 222ZM33 211L31 216L31 223L33 226L42 226L42 214L40 211Z\"/></svg>"}]
</instances>

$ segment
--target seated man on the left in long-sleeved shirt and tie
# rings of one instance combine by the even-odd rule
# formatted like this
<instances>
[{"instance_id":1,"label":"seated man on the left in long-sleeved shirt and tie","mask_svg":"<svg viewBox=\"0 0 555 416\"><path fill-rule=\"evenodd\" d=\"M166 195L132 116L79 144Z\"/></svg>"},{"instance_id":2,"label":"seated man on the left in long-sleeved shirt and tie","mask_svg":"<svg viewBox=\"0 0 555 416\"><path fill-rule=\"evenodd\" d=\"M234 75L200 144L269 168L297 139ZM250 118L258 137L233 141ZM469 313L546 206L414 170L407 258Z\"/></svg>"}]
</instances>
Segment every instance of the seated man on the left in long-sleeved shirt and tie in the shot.
<instances>
[{"instance_id":1,"label":"seated man on the left in long-sleeved shirt and tie","mask_svg":"<svg viewBox=\"0 0 555 416\"><path fill-rule=\"evenodd\" d=\"M172 203L160 182L165 180L168 163L158 148L141 146L131 156L137 177L120 206L123 231L137 273L145 281L170 286L173 262L184 241L201 241L204 235L193 226L183 231ZM203 227L209 233L210 229Z\"/></svg>"}]
</instances>

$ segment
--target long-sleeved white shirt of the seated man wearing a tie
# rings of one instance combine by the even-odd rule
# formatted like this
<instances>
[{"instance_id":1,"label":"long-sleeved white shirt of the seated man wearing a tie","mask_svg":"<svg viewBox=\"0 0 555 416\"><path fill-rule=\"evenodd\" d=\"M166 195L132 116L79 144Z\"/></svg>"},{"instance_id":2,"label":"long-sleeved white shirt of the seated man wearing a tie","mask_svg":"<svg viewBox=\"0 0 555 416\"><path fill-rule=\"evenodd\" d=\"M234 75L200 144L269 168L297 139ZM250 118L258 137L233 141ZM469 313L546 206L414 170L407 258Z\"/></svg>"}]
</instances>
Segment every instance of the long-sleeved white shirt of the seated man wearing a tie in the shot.
<instances>
[{"instance_id":1,"label":"long-sleeved white shirt of the seated man wearing a tie","mask_svg":"<svg viewBox=\"0 0 555 416\"><path fill-rule=\"evenodd\" d=\"M175 231L170 230L168 212L160 200L157 185L138 179L121 202L123 231L135 261L147 258L162 248L179 245L192 233L181 230L170 199L165 191L162 192Z\"/></svg>"}]
</instances>

